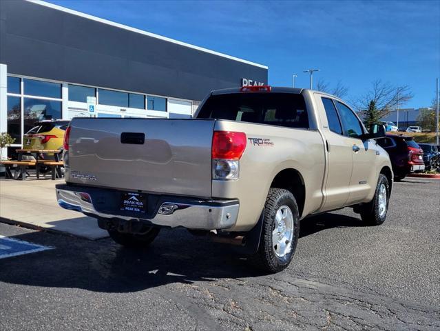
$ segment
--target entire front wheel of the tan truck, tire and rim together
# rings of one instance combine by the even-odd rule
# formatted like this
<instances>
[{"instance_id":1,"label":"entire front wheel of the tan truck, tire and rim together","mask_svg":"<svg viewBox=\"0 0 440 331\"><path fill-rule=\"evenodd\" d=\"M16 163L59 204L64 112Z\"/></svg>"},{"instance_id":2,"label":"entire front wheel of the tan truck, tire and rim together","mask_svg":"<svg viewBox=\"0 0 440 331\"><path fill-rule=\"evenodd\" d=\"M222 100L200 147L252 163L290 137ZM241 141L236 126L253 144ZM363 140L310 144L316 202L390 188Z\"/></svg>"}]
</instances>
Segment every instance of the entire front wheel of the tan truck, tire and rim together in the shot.
<instances>
[{"instance_id":1,"label":"entire front wheel of the tan truck, tire and rim together","mask_svg":"<svg viewBox=\"0 0 440 331\"><path fill-rule=\"evenodd\" d=\"M386 219L388 201L390 199L390 184L384 174L379 174L376 192L373 200L362 206L361 218L368 225L381 225Z\"/></svg>"}]
</instances>

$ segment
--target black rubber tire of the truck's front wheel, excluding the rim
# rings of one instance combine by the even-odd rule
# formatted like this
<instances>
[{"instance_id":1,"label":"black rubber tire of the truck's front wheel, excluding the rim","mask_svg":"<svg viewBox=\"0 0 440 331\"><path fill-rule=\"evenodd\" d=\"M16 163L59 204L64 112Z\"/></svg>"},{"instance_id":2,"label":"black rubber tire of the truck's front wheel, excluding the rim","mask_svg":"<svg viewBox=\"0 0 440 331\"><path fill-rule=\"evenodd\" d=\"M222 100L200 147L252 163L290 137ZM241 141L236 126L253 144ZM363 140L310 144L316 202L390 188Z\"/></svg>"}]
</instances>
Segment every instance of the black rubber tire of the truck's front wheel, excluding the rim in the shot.
<instances>
[{"instance_id":1,"label":"black rubber tire of the truck's front wheel, excluding the rim","mask_svg":"<svg viewBox=\"0 0 440 331\"><path fill-rule=\"evenodd\" d=\"M379 213L379 190L381 185L385 185L386 188L386 210L384 214ZM388 203L390 201L390 183L384 174L379 174L379 179L377 180L375 196L370 203L366 203L361 209L361 218L364 223L368 225L381 225L386 219L386 214L388 213Z\"/></svg>"}]
</instances>

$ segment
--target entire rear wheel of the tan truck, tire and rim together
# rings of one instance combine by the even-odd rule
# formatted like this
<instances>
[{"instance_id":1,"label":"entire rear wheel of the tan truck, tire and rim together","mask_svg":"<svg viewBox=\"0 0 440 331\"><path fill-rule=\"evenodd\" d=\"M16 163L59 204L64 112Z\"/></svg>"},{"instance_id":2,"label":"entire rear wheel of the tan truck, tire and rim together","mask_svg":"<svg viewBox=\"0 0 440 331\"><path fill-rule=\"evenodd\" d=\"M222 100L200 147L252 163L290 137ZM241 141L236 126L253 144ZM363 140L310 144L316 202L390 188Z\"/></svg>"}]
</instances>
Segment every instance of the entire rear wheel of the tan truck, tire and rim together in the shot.
<instances>
[{"instance_id":1,"label":"entire rear wheel of the tan truck, tire and rim together","mask_svg":"<svg viewBox=\"0 0 440 331\"><path fill-rule=\"evenodd\" d=\"M260 247L251 262L266 272L287 268L300 234L298 206L288 190L271 188L264 205Z\"/></svg>"}]
</instances>

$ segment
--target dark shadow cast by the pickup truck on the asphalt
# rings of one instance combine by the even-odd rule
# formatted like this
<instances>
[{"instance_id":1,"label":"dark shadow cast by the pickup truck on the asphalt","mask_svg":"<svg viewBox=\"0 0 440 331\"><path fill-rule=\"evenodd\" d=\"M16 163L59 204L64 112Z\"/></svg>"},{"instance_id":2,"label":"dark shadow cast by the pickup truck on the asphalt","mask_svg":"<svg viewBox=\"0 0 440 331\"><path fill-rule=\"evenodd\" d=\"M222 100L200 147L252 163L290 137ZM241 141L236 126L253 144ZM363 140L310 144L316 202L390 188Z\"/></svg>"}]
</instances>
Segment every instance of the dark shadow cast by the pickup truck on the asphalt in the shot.
<instances>
[{"instance_id":1,"label":"dark shadow cast by the pickup truck on the asphalt","mask_svg":"<svg viewBox=\"0 0 440 331\"><path fill-rule=\"evenodd\" d=\"M306 224L306 225L304 225ZM326 228L358 226L353 217L324 214L302 222L301 237ZM0 282L93 292L137 292L169 283L216 282L262 276L229 245L163 230L146 250L127 250L111 239L87 241L48 232L12 237L53 250L0 259Z\"/></svg>"}]
</instances>

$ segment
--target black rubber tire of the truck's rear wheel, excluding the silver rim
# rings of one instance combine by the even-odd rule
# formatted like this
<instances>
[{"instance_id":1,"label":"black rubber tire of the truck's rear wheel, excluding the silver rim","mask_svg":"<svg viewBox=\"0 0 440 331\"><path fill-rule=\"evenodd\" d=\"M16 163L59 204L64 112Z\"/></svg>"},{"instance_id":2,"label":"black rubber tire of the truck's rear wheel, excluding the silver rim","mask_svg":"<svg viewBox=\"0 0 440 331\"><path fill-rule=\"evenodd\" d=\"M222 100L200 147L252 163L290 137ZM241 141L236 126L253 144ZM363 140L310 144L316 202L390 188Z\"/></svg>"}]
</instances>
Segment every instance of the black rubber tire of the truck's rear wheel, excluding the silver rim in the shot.
<instances>
[{"instance_id":1,"label":"black rubber tire of the truck's rear wheel, excluding the silver rim","mask_svg":"<svg viewBox=\"0 0 440 331\"><path fill-rule=\"evenodd\" d=\"M286 253L284 257L278 257L275 254L275 248L272 243L272 232L275 229L275 215L277 210L286 205L290 208L293 215L293 237L290 246L290 252ZM264 219L262 225L262 234L260 237L260 247L258 252L253 254L251 263L261 270L269 273L280 272L287 268L295 249L300 234L300 213L298 212L298 205L295 197L288 190L280 188L271 188L266 198L264 205Z\"/></svg>"}]
</instances>

